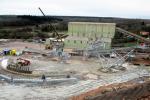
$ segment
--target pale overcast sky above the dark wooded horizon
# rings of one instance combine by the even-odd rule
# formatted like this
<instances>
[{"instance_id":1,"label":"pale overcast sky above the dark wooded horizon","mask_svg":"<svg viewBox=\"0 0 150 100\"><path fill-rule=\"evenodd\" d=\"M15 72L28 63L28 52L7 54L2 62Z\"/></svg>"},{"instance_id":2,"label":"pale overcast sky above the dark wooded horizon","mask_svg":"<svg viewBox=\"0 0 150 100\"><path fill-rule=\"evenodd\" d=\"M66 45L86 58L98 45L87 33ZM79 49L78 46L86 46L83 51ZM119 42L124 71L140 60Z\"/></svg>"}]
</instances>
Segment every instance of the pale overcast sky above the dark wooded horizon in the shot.
<instances>
[{"instance_id":1,"label":"pale overcast sky above the dark wooded horizon","mask_svg":"<svg viewBox=\"0 0 150 100\"><path fill-rule=\"evenodd\" d=\"M0 0L0 15L150 18L150 0Z\"/></svg>"}]
</instances>

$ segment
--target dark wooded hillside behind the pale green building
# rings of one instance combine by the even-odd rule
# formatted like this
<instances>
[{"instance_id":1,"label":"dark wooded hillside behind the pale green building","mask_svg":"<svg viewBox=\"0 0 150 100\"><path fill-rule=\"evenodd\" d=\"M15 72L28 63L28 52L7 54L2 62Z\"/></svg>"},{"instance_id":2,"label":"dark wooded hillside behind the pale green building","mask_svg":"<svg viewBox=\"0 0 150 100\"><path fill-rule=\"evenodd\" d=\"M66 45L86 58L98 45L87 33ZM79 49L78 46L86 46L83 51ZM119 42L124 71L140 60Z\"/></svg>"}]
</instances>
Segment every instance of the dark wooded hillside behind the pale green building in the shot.
<instances>
[{"instance_id":1,"label":"dark wooded hillside behind the pale green building","mask_svg":"<svg viewBox=\"0 0 150 100\"><path fill-rule=\"evenodd\" d=\"M150 32L149 19L127 19L113 17L83 17L83 16L30 16L30 15L1 15L0 16L0 38L32 38L37 34L52 32L49 23L53 24L57 31L67 31L68 22L105 22L116 23L130 32ZM22 34L28 34L28 36ZM19 36L16 36L19 35ZM118 36L116 36L118 37ZM120 37L120 35L119 35Z\"/></svg>"}]
</instances>

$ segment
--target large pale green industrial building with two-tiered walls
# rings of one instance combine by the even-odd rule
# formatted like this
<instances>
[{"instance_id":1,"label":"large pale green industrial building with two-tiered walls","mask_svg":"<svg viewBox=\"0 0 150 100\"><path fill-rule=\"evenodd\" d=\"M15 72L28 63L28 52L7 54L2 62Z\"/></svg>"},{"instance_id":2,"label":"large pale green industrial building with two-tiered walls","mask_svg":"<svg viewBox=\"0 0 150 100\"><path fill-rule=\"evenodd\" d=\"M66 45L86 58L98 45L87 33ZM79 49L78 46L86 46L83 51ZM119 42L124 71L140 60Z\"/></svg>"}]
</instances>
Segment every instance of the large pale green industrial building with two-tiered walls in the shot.
<instances>
[{"instance_id":1,"label":"large pale green industrial building with two-tiered walls","mask_svg":"<svg viewBox=\"0 0 150 100\"><path fill-rule=\"evenodd\" d=\"M104 49L110 49L115 27L115 23L69 22L65 48L83 50L98 38L105 42Z\"/></svg>"}]
</instances>

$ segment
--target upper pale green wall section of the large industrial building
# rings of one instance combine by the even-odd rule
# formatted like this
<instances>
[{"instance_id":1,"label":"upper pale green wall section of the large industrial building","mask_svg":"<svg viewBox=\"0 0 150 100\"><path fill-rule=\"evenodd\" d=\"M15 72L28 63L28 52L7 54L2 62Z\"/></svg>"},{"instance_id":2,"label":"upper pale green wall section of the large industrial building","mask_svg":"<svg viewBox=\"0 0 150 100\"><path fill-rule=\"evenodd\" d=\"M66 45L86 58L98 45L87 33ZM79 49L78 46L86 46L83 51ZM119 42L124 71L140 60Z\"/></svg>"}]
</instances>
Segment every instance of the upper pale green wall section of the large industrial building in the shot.
<instances>
[{"instance_id":1,"label":"upper pale green wall section of the large industrial building","mask_svg":"<svg viewBox=\"0 0 150 100\"><path fill-rule=\"evenodd\" d=\"M70 22L68 24L68 34L80 37L107 37L113 38L115 34L115 23L89 23Z\"/></svg>"}]
</instances>

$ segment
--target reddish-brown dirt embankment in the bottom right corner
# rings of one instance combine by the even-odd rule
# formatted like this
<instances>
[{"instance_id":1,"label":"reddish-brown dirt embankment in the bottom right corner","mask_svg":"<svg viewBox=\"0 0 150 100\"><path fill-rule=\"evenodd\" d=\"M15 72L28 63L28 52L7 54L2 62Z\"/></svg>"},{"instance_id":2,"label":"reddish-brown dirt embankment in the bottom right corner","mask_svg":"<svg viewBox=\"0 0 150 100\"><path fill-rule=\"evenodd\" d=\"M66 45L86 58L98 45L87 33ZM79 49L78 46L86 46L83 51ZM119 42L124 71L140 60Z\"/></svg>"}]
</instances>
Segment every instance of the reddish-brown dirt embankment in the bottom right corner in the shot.
<instances>
[{"instance_id":1,"label":"reddish-brown dirt embankment in the bottom right corner","mask_svg":"<svg viewBox=\"0 0 150 100\"><path fill-rule=\"evenodd\" d=\"M150 79L102 86L71 100L150 100Z\"/></svg>"}]
</instances>

